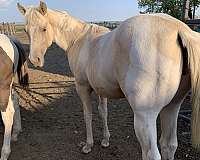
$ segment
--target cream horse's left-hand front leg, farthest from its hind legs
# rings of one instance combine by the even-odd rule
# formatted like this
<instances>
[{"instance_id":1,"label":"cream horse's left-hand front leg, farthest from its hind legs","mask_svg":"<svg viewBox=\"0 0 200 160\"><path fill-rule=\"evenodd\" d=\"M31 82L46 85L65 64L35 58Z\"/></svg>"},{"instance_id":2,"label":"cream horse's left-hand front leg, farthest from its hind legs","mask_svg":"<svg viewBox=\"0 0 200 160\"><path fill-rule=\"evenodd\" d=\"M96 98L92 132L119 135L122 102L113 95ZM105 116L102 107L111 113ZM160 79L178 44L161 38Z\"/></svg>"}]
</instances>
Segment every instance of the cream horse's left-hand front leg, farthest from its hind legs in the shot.
<instances>
[{"instance_id":1,"label":"cream horse's left-hand front leg, farthest from its hind legs","mask_svg":"<svg viewBox=\"0 0 200 160\"><path fill-rule=\"evenodd\" d=\"M92 104L91 104L91 87L89 85L81 85L76 83L76 90L83 103L84 119L86 123L87 140L82 148L83 153L89 153L92 150L94 140L92 134Z\"/></svg>"}]
</instances>

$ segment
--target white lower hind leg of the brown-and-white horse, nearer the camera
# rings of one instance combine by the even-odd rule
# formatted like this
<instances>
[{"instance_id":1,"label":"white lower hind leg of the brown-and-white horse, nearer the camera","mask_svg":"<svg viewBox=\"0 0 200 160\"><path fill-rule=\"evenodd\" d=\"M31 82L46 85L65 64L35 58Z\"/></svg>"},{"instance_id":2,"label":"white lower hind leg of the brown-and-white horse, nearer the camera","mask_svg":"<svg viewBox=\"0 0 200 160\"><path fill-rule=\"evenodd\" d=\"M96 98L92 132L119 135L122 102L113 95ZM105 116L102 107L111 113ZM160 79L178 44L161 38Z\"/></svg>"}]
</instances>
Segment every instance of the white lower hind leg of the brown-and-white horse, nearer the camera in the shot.
<instances>
[{"instance_id":1,"label":"white lower hind leg of the brown-and-white horse, nearer the camera","mask_svg":"<svg viewBox=\"0 0 200 160\"><path fill-rule=\"evenodd\" d=\"M1 160L7 160L11 152L10 141L11 141L14 112L15 110L13 106L13 101L10 95L6 112L1 112L3 123L5 126L3 147L1 150Z\"/></svg>"}]
</instances>

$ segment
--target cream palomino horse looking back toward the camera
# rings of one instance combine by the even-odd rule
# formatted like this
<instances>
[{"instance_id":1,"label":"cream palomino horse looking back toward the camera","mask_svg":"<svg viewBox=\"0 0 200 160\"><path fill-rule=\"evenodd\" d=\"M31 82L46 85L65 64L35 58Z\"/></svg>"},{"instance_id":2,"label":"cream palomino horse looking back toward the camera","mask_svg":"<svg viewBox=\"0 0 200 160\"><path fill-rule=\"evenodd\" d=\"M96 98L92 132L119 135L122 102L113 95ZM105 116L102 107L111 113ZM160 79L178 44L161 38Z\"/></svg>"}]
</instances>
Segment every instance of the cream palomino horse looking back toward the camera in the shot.
<instances>
[{"instance_id":1,"label":"cream palomino horse looking back toward the camera","mask_svg":"<svg viewBox=\"0 0 200 160\"><path fill-rule=\"evenodd\" d=\"M83 102L87 141L93 146L91 92L99 95L103 119L102 146L109 145L107 98L126 97L134 112L134 129L143 160L174 159L177 148L177 117L192 87L192 142L200 144L200 35L181 21L165 15L132 17L115 30L87 24L66 12L23 7L30 37L30 61L42 67L52 42L63 48ZM41 45L42 44L42 45ZM189 64L189 65L188 65ZM188 67L188 68L187 68ZM190 80L191 78L191 80ZM190 83L191 82L191 83ZM157 147L156 119L160 114L161 155Z\"/></svg>"}]
</instances>

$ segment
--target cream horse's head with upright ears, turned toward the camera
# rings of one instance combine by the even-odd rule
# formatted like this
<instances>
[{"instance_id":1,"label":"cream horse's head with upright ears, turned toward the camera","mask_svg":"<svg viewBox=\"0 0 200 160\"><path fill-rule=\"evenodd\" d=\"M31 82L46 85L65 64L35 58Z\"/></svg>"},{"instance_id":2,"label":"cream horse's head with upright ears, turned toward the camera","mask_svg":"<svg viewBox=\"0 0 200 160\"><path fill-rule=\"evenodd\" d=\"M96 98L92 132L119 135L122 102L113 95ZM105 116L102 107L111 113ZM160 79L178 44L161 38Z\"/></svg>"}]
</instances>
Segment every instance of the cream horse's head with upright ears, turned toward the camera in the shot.
<instances>
[{"instance_id":1,"label":"cream horse's head with upright ears, turned toward the camera","mask_svg":"<svg viewBox=\"0 0 200 160\"><path fill-rule=\"evenodd\" d=\"M53 42L53 29L48 19L47 6L40 1L39 7L24 7L17 4L19 11L25 16L25 30L30 38L29 59L35 66L44 65L44 55Z\"/></svg>"}]
</instances>

